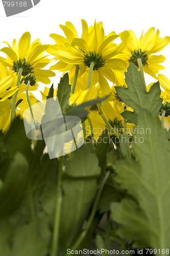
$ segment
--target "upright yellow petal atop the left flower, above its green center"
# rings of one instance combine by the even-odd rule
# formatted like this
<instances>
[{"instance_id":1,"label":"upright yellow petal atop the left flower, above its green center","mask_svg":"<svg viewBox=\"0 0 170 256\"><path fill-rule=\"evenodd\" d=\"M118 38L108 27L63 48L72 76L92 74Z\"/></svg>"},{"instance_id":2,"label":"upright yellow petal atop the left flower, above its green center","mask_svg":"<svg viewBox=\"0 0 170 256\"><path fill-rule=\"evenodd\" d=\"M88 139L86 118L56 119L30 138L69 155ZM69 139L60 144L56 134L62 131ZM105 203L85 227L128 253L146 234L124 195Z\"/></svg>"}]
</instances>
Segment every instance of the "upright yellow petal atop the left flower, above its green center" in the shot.
<instances>
[{"instance_id":1,"label":"upright yellow petal atop the left flower, above its green center","mask_svg":"<svg viewBox=\"0 0 170 256\"><path fill-rule=\"evenodd\" d=\"M29 32L25 32L18 42L18 57L25 59L27 51L30 47L31 35Z\"/></svg>"}]
</instances>

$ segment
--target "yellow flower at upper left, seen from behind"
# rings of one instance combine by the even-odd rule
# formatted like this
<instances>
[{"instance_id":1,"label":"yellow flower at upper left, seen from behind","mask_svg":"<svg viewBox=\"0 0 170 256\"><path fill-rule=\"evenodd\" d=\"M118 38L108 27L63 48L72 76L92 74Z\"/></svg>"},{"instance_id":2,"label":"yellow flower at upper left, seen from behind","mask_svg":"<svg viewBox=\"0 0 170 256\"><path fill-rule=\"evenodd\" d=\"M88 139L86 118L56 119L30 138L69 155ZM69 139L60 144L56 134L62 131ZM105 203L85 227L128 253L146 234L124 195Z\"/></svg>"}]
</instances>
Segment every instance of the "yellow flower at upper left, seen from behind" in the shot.
<instances>
[{"instance_id":1,"label":"yellow flower at upper left, seen from behind","mask_svg":"<svg viewBox=\"0 0 170 256\"><path fill-rule=\"evenodd\" d=\"M37 82L48 84L50 83L48 77L55 76L53 71L42 70L50 62L50 59L43 56L48 46L41 45L39 39L33 41L32 44L30 42L31 35L29 32L25 32L21 36L18 46L15 39L12 42L12 47L5 41L8 47L2 48L1 51L7 54L7 58L0 57L0 62L16 73L18 73L19 68L22 68L22 76L33 73Z\"/></svg>"}]
</instances>

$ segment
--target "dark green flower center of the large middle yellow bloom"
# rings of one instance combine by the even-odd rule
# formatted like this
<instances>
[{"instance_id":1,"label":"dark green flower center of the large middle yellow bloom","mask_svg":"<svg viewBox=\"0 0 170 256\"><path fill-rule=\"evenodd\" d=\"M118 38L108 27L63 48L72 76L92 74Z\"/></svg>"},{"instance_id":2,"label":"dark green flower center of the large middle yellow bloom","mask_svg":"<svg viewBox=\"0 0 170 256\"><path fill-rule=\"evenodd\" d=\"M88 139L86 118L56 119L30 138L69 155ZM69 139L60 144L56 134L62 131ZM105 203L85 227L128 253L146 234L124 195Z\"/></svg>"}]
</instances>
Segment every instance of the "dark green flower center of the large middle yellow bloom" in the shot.
<instances>
[{"instance_id":1,"label":"dark green flower center of the large middle yellow bloom","mask_svg":"<svg viewBox=\"0 0 170 256\"><path fill-rule=\"evenodd\" d=\"M98 70L105 65L105 60L102 58L102 54L96 54L89 51L89 54L84 54L84 65L90 68L90 63L93 61L94 67L93 70Z\"/></svg>"}]
</instances>

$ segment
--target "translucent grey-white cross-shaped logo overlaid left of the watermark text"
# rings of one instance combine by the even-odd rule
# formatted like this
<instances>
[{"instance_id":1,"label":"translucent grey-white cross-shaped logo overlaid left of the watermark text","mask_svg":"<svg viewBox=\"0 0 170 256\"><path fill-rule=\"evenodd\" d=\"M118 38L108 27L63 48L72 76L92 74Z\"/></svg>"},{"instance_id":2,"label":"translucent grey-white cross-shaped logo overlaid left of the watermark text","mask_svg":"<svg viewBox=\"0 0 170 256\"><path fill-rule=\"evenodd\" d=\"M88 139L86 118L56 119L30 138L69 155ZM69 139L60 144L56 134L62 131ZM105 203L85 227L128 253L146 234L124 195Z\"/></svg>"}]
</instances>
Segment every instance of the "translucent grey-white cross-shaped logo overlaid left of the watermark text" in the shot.
<instances>
[{"instance_id":1,"label":"translucent grey-white cross-shaped logo overlaid left of the watermark text","mask_svg":"<svg viewBox=\"0 0 170 256\"><path fill-rule=\"evenodd\" d=\"M32 140L44 139L50 159L71 153L84 143L81 119L63 116L58 98L32 105L23 112L26 135Z\"/></svg>"}]
</instances>

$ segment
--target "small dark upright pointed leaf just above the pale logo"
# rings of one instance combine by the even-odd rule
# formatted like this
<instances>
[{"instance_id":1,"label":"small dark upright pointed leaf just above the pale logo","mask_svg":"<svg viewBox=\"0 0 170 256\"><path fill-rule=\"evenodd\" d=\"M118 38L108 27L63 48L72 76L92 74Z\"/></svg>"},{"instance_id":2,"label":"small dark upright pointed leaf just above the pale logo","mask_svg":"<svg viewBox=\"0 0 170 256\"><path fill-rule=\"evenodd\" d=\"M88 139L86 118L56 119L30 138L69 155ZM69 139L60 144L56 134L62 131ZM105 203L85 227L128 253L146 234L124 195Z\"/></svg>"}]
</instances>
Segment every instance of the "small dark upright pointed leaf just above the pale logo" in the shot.
<instances>
[{"instance_id":1,"label":"small dark upright pointed leaf just above the pale logo","mask_svg":"<svg viewBox=\"0 0 170 256\"><path fill-rule=\"evenodd\" d=\"M62 113L64 113L65 109L67 108L67 102L69 100L70 91L71 86L69 84L68 73L66 73L63 77L61 77L57 91L57 98L60 103Z\"/></svg>"}]
</instances>

